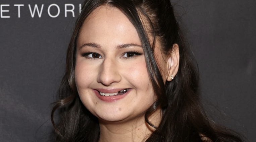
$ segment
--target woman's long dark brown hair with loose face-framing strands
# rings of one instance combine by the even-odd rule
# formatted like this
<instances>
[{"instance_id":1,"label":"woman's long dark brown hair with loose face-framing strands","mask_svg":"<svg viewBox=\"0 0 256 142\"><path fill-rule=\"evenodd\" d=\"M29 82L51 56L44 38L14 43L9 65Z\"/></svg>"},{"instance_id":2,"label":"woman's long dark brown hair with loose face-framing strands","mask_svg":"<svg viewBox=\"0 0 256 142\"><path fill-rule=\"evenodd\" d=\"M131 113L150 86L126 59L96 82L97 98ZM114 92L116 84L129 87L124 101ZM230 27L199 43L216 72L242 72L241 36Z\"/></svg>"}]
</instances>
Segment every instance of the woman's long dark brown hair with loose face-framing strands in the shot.
<instances>
[{"instance_id":1,"label":"woman's long dark brown hair with loose face-framing strands","mask_svg":"<svg viewBox=\"0 0 256 142\"><path fill-rule=\"evenodd\" d=\"M113 6L121 10L132 22L143 46L148 75L157 100L145 114L146 122L156 130L146 142L242 142L235 132L217 126L209 120L200 105L197 68L186 48L182 32L175 19L169 0L86 0L76 21L66 56L66 72L58 91L59 101L54 103L51 120L56 141L97 142L100 129L98 119L82 104L74 80L76 40L80 28L90 13L99 6ZM141 21L144 17L145 21ZM149 26L144 26L146 22ZM154 37L149 41L149 35ZM154 58L155 41L161 43L164 54L170 54L173 44L179 45L178 73L171 82L164 82ZM148 121L148 116L162 110L159 126ZM60 119L54 123L54 112Z\"/></svg>"}]
</instances>

